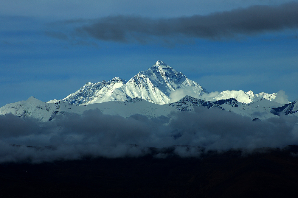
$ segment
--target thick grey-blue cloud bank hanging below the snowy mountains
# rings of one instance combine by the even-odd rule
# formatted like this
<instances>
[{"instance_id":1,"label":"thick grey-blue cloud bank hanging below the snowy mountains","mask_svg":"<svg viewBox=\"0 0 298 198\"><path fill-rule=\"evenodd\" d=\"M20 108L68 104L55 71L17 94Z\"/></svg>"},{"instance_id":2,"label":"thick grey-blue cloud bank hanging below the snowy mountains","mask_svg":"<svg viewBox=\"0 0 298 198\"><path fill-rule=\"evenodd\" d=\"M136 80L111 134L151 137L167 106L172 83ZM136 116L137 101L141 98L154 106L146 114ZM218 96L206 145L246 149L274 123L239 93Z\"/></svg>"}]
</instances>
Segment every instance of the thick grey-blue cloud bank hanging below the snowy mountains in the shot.
<instances>
[{"instance_id":1,"label":"thick grey-blue cloud bank hanging below the snowy mountains","mask_svg":"<svg viewBox=\"0 0 298 198\"><path fill-rule=\"evenodd\" d=\"M98 109L46 123L7 115L0 116L0 162L40 163L86 156L116 158L146 154L166 157L162 149L153 152L149 147L173 145L190 145L174 147L173 152L181 157L199 157L203 152L200 147L205 150L284 147L298 144L297 122L296 116L253 122L232 112L204 107L151 119L139 114L127 119L103 115Z\"/></svg>"}]
</instances>

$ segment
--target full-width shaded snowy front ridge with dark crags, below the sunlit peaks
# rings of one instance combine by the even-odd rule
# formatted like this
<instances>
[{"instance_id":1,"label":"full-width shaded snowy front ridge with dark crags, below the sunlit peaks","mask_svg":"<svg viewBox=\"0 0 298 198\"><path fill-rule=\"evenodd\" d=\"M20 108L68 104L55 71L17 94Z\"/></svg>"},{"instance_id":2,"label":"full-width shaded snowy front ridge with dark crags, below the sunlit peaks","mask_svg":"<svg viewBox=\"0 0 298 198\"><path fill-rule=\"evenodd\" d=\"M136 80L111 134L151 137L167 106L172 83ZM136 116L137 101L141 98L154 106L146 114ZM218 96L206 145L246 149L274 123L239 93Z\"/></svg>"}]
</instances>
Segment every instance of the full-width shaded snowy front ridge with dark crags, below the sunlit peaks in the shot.
<instances>
[{"instance_id":1,"label":"full-width shaded snowy front ridge with dark crags, below the sunlit peaks","mask_svg":"<svg viewBox=\"0 0 298 198\"><path fill-rule=\"evenodd\" d=\"M291 105L292 104L292 105ZM246 104L238 102L236 99L222 99L218 101L205 101L191 96L185 96L178 102L158 105L148 102L141 98L133 98L128 101L109 101L94 103L89 105L72 105L68 102L58 101L56 103L42 102L34 97L26 101L7 104L0 108L0 115L12 113L19 117L32 117L41 121L51 121L57 115L77 114L83 115L83 112L90 109L99 109L103 114L119 115L125 118L134 114L141 114L149 118L168 116L177 111L193 111L196 107L219 108L225 111L231 111L243 116L254 119L255 117L263 120L270 117L278 117L272 110L278 109L284 111L291 108L290 113L297 112L296 103L291 103L286 107L279 107L280 104L261 98L255 102ZM278 107L278 108L277 108Z\"/></svg>"}]
</instances>

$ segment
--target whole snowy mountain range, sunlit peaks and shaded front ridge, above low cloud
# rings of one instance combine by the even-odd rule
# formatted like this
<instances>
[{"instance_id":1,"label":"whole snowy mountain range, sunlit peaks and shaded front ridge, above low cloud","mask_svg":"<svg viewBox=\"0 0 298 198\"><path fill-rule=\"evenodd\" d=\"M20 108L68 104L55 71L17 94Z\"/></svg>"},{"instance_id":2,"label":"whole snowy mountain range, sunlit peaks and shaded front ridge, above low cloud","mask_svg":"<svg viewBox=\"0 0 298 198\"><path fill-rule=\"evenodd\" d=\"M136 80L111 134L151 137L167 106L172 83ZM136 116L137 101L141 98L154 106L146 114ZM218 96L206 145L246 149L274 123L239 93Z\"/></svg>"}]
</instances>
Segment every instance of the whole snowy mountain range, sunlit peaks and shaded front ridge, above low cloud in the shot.
<instances>
[{"instance_id":1,"label":"whole snowy mountain range, sunlit peaks and shaded front ridge, above low cloud","mask_svg":"<svg viewBox=\"0 0 298 198\"><path fill-rule=\"evenodd\" d=\"M185 93L188 95L183 95ZM209 92L201 85L159 60L128 81L115 77L108 82L88 82L62 100L42 102L31 96L26 101L1 107L0 114L12 113L19 117L51 121L57 115L82 115L85 110L98 108L104 114L123 117L141 114L153 118L168 116L173 111L192 111L197 106L203 106L261 120L278 117L280 114L298 116L297 101L290 103L286 100L287 104L275 102L277 93L254 94L252 91L240 90L223 91L211 100L204 100L206 97L209 97ZM179 100L175 101L174 98Z\"/></svg>"}]
</instances>

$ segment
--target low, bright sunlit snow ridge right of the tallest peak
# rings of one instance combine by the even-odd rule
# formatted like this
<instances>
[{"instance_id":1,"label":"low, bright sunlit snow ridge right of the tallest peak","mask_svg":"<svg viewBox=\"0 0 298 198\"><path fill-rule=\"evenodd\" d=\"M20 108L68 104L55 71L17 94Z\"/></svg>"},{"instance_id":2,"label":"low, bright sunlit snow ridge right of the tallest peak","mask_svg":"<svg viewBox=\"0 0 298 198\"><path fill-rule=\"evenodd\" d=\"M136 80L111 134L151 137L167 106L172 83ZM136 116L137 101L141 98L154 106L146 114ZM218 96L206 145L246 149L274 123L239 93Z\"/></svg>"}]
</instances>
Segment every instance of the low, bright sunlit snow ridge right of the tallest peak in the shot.
<instances>
[{"instance_id":1,"label":"low, bright sunlit snow ridge right of the tallest peak","mask_svg":"<svg viewBox=\"0 0 298 198\"><path fill-rule=\"evenodd\" d=\"M240 91L223 91L218 96L214 98L214 100L221 100L221 99L228 99L228 98L235 98L238 102L244 102L244 103L250 103L256 100L259 100L261 98L265 98L267 100L274 101L276 99L277 93L257 93L254 94L252 91L244 92L242 90ZM287 103L290 103L287 99Z\"/></svg>"}]
</instances>

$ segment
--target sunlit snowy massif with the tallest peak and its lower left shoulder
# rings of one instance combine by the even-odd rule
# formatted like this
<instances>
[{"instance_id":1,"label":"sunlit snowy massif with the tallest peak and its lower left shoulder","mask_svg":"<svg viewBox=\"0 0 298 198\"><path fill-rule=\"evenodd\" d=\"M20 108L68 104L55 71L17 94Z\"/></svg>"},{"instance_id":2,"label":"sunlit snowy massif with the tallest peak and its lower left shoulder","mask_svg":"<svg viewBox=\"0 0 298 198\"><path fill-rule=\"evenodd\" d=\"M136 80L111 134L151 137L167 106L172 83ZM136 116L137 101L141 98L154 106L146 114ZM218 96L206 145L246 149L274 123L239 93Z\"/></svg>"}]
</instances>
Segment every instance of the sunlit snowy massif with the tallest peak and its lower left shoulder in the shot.
<instances>
[{"instance_id":1,"label":"sunlit snowy massif with the tallest peak and its lower left shoulder","mask_svg":"<svg viewBox=\"0 0 298 198\"><path fill-rule=\"evenodd\" d=\"M198 83L159 60L151 68L139 72L128 82L119 77L108 82L95 84L88 82L62 100L74 105L88 105L108 101L128 101L138 97L162 105L171 102L170 94L179 89L187 89L195 96L209 93ZM57 101L52 100L49 103Z\"/></svg>"}]
</instances>

